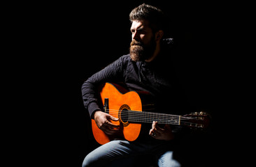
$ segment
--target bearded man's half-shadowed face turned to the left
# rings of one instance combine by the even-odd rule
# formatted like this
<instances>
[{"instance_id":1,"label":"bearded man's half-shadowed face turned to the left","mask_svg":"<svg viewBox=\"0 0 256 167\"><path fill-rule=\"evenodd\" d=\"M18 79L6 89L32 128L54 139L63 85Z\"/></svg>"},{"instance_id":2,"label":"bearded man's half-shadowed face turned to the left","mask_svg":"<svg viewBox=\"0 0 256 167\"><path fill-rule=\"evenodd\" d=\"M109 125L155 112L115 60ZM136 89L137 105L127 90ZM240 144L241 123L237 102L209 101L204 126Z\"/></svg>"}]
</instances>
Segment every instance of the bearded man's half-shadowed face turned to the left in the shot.
<instances>
[{"instance_id":1,"label":"bearded man's half-shadowed face turned to the left","mask_svg":"<svg viewBox=\"0 0 256 167\"><path fill-rule=\"evenodd\" d=\"M147 20L134 20L131 24L130 55L133 61L145 61L155 51L156 42Z\"/></svg>"}]
</instances>

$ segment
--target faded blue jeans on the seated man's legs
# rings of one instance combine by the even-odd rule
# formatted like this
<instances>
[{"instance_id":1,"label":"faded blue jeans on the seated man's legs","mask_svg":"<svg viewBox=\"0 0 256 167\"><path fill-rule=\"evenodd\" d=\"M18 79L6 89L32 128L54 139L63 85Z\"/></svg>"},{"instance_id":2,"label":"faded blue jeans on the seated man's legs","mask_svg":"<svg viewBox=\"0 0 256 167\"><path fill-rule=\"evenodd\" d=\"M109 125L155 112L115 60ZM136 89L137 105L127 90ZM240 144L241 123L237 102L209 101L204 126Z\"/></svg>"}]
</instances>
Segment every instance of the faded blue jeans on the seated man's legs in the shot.
<instances>
[{"instance_id":1,"label":"faded blue jeans on the seated man's legs","mask_svg":"<svg viewBox=\"0 0 256 167\"><path fill-rule=\"evenodd\" d=\"M180 166L173 159L173 151L167 149L165 144L145 144L130 141L111 141L93 150L85 157L85 166L133 166L136 159L145 154L153 154L159 167ZM152 159L149 159L152 161Z\"/></svg>"}]
</instances>

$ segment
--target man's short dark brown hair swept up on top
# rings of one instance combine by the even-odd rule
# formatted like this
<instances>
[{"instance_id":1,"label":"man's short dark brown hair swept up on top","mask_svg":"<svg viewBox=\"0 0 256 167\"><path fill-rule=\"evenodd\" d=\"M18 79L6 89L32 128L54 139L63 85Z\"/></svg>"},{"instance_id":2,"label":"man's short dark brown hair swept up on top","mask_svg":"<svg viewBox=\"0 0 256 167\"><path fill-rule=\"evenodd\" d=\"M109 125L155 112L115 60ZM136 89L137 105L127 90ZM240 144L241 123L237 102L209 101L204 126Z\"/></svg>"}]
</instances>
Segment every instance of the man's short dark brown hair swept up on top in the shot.
<instances>
[{"instance_id":1,"label":"man's short dark brown hair swept up on top","mask_svg":"<svg viewBox=\"0 0 256 167\"><path fill-rule=\"evenodd\" d=\"M162 10L156 8L155 6L150 6L143 3L140 6L131 10L131 13L129 14L129 19L131 22L133 22L134 20L148 20L149 26L152 29L153 33L159 30L164 31L164 13L162 12Z\"/></svg>"}]
</instances>

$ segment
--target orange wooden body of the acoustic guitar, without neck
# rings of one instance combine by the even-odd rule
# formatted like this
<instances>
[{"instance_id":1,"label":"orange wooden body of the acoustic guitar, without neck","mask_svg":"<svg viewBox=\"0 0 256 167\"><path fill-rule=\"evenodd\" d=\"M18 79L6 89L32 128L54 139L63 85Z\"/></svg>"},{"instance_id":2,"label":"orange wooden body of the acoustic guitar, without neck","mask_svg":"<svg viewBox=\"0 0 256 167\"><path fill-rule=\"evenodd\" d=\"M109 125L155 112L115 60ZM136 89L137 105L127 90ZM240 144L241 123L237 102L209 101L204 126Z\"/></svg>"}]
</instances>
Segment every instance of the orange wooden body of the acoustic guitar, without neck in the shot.
<instances>
[{"instance_id":1,"label":"orange wooden body of the acoustic guitar, without neck","mask_svg":"<svg viewBox=\"0 0 256 167\"><path fill-rule=\"evenodd\" d=\"M105 98L108 99L108 111L111 116L119 118L119 121L111 121L115 125L121 125L122 132L121 134L115 136L106 135L99 127L97 127L96 122L92 119L92 132L95 140L103 145L112 141L114 138L120 137L125 138L127 141L134 141L138 138L138 135L141 132L141 124L139 123L130 123L126 120L125 116L122 116L122 111L134 110L142 111L141 97L135 91L130 91L127 93L121 93L119 90L124 89L106 83L105 86L101 89L100 95L101 100L104 103Z\"/></svg>"}]
</instances>

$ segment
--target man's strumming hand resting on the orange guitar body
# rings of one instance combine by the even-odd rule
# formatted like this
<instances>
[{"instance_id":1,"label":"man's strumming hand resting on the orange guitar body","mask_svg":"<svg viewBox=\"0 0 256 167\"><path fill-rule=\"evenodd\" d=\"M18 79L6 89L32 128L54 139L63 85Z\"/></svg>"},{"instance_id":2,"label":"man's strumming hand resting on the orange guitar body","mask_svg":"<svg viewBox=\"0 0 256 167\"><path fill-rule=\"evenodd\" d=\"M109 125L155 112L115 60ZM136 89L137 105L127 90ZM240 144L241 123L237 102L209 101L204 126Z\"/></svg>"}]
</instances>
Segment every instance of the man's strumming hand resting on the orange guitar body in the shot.
<instances>
[{"instance_id":1,"label":"man's strumming hand resting on the orange guitar body","mask_svg":"<svg viewBox=\"0 0 256 167\"><path fill-rule=\"evenodd\" d=\"M119 119L109 115L108 113L104 113L102 111L95 111L94 120L99 129L101 129L108 135L115 134L120 130L119 125L115 125L110 121L118 121Z\"/></svg>"}]
</instances>

